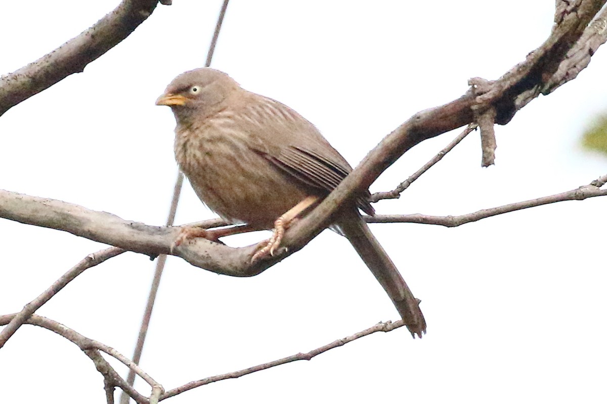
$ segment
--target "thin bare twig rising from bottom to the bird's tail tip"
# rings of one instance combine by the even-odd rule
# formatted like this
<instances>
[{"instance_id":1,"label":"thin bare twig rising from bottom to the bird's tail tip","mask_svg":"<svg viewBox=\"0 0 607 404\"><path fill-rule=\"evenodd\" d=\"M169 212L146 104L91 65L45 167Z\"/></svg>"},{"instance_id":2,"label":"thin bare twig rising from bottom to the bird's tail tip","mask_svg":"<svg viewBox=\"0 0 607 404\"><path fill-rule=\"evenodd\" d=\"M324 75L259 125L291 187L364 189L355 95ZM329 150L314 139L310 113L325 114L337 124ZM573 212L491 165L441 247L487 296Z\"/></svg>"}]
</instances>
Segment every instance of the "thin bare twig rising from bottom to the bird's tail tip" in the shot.
<instances>
[{"instance_id":1,"label":"thin bare twig rising from bottom to the bird's tail tip","mask_svg":"<svg viewBox=\"0 0 607 404\"><path fill-rule=\"evenodd\" d=\"M194 382L189 382L183 386L180 386L180 387L167 391L161 397L161 400L168 399L169 397L172 397L172 396L177 396L177 394L180 394L184 391L188 391L188 390L191 390L191 389L199 387L199 386L208 385L209 383L213 383L213 382L219 382L219 380L236 379L237 377L245 376L246 374L259 372L261 370L273 368L274 366L283 365L285 363L296 362L297 360L310 360L313 357L320 355L324 352L327 352L330 349L337 348L338 346L343 346L343 345L347 344L348 342L352 342L353 340L357 340L361 337L368 336L373 333L378 333L380 331L383 333L389 333L393 329L400 328L404 325L405 325L405 323L402 320L398 320L396 322L388 321L385 323L379 322L376 325L374 325L370 328L364 329L363 331L361 331L359 333L356 333L349 337L335 340L327 345L320 346L320 348L313 349L312 351L310 351L306 354L299 353L299 354L284 357L282 359L273 360L272 362L262 363L261 365L252 366L251 368L242 369L242 370L239 370L236 372L220 374L220 375L211 376L211 377L205 377L205 379L200 379L200 380L196 380Z\"/></svg>"}]
</instances>

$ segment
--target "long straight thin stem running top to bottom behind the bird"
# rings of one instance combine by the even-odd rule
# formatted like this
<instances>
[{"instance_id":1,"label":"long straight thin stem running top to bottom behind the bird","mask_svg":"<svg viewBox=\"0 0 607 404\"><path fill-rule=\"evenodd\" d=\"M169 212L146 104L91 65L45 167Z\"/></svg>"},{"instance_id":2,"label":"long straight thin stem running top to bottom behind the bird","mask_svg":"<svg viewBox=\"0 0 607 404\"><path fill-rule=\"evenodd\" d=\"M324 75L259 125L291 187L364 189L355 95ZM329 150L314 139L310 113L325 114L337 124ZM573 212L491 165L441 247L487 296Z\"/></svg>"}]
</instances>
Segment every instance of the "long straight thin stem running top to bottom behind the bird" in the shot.
<instances>
[{"instance_id":1,"label":"long straight thin stem running top to bottom behind the bird","mask_svg":"<svg viewBox=\"0 0 607 404\"><path fill-rule=\"evenodd\" d=\"M215 32L213 33L213 38L211 39L211 45L209 45L209 51L206 55L205 66L209 67L211 65L211 60L213 58L213 54L215 53L215 45L217 45L217 38L219 38L219 31L222 29L223 18L225 17L226 9L228 8L229 0L224 0L222 9L219 12L219 17L217 18L217 24L215 25ZM177 205L179 203L179 196L181 195L181 186L183 185L183 173L179 171L177 173L177 180L175 181L175 188L173 190L173 199L171 200L171 208L169 209L169 217L166 220L167 226L172 226L175 221L175 213L177 213ZM156 300L156 295L158 293L158 286L160 285L160 277L162 276L162 271L164 270L164 263L166 263L166 255L162 254L158 257L158 262L156 263L156 270L154 271L154 279L152 279L152 286L150 287L150 293L148 296L148 304L146 305L146 310L143 313L143 319L141 319L141 327L139 329L139 336L137 338L137 344L135 345L135 351L133 353L133 362L139 364L139 360L141 359L141 353L143 352L143 345L146 340L146 335L148 334L148 326L150 319L152 317L152 310L154 309L154 302ZM135 372L130 369L129 376L126 379L126 382L129 383L129 386L132 386L135 382ZM129 403L129 395L124 391L120 395L120 404L128 404Z\"/></svg>"}]
</instances>

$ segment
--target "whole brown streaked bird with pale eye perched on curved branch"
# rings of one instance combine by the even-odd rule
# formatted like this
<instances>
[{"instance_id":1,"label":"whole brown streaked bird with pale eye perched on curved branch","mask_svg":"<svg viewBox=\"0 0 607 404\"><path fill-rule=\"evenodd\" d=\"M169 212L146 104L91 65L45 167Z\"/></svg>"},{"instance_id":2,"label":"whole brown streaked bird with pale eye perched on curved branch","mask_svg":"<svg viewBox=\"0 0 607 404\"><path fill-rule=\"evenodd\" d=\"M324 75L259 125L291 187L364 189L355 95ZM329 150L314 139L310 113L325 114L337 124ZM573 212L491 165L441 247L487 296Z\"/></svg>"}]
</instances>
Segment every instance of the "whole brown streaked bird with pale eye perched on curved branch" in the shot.
<instances>
[{"instance_id":1,"label":"whole brown streaked bird with pale eye perched on curved branch","mask_svg":"<svg viewBox=\"0 0 607 404\"><path fill-rule=\"evenodd\" d=\"M352 171L320 131L274 99L240 87L223 71L178 75L157 99L175 116L175 160L198 198L232 224L273 230L253 260L280 247L288 226L316 206ZM343 234L384 288L413 338L426 320L395 264L360 211L375 213L365 190L340 207L333 227ZM205 237L186 231L179 242ZM217 237L208 237L217 240Z\"/></svg>"}]
</instances>

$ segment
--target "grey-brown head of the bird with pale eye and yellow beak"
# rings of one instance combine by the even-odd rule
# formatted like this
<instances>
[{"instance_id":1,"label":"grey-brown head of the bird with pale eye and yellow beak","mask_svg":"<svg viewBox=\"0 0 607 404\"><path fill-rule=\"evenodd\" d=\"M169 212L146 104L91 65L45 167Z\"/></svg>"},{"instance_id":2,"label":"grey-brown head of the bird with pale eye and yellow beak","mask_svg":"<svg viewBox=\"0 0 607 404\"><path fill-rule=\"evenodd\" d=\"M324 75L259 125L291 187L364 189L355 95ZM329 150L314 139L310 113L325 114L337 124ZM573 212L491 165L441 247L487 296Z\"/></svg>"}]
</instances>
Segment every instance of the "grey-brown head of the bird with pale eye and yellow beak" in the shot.
<instances>
[{"instance_id":1,"label":"grey-brown head of the bird with pale eye and yellow beak","mask_svg":"<svg viewBox=\"0 0 607 404\"><path fill-rule=\"evenodd\" d=\"M223 108L223 102L240 87L223 71L209 67L186 71L166 87L156 105L168 105L180 125L204 119Z\"/></svg>"}]
</instances>

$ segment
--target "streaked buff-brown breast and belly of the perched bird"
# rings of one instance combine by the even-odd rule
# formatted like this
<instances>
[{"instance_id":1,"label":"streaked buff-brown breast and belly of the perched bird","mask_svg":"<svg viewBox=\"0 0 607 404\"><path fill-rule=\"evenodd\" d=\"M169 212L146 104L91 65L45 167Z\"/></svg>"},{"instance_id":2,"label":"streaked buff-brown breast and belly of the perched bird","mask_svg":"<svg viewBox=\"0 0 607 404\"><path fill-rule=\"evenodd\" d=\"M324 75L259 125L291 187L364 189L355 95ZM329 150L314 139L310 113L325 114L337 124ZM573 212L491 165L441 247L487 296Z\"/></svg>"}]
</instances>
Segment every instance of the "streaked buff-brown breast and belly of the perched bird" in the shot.
<instances>
[{"instance_id":1,"label":"streaked buff-brown breast and belly of the perched bird","mask_svg":"<svg viewBox=\"0 0 607 404\"><path fill-rule=\"evenodd\" d=\"M245 144L220 137L175 156L200 200L235 222L272 228L274 220L308 194ZM299 185L299 186L298 186Z\"/></svg>"}]
</instances>

